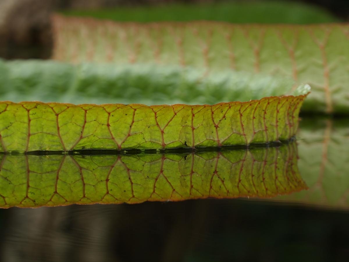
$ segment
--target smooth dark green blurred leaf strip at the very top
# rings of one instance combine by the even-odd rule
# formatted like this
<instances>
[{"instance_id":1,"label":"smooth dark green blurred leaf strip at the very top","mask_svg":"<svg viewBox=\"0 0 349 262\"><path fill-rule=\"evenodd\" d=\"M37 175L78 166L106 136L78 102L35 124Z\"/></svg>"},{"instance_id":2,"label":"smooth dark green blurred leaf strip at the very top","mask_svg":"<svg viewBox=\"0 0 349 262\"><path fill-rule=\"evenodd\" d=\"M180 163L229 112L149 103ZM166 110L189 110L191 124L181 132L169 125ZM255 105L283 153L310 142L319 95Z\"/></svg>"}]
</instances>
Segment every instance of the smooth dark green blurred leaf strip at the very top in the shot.
<instances>
[{"instance_id":1,"label":"smooth dark green blurred leaf strip at the very top","mask_svg":"<svg viewBox=\"0 0 349 262\"><path fill-rule=\"evenodd\" d=\"M230 23L330 23L338 20L316 6L287 1L221 1L108 9L66 10L67 16L134 22L215 20Z\"/></svg>"}]
</instances>

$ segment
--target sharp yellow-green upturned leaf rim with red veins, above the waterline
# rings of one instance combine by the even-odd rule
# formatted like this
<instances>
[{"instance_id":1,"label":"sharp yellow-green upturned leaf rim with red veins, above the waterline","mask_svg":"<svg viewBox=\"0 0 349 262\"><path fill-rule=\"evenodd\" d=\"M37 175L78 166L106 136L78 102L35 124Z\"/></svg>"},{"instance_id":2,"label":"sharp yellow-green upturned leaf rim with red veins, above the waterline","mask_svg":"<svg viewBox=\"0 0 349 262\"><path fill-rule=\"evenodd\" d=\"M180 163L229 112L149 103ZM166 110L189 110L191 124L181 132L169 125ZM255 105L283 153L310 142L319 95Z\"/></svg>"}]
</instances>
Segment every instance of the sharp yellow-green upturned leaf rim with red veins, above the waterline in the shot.
<instances>
[{"instance_id":1,"label":"sharp yellow-green upturned leaf rim with red veins, above the waterline","mask_svg":"<svg viewBox=\"0 0 349 262\"><path fill-rule=\"evenodd\" d=\"M306 95L215 105L0 102L0 152L221 147L288 140Z\"/></svg>"}]
</instances>

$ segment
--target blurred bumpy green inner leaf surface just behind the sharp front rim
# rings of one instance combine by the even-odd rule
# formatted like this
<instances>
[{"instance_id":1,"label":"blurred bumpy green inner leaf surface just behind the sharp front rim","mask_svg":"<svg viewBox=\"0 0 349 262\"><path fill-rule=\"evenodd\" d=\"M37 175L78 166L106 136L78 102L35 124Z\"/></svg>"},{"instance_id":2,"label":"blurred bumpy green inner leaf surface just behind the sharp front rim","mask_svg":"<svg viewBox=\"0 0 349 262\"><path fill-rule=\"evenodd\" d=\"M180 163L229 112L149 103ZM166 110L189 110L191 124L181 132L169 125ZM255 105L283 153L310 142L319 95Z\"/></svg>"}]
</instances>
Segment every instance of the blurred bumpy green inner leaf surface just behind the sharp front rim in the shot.
<instances>
[{"instance_id":1,"label":"blurred bumpy green inner leaf surface just behind the sharp front rim","mask_svg":"<svg viewBox=\"0 0 349 262\"><path fill-rule=\"evenodd\" d=\"M13 102L216 104L289 95L294 85L289 78L228 70L0 60L1 99Z\"/></svg>"}]
</instances>

